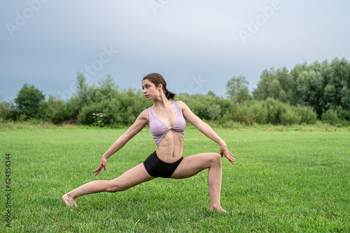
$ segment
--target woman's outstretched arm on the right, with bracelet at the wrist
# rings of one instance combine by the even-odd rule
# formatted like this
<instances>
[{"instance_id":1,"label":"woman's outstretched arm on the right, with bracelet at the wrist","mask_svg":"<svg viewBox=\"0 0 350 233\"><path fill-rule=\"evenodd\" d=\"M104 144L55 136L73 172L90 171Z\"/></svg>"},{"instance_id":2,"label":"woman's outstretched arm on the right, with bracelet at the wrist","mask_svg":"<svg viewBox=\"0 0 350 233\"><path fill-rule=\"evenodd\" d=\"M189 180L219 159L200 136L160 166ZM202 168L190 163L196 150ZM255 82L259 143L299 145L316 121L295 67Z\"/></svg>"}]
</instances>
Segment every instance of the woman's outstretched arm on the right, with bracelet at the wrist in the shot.
<instances>
[{"instance_id":1,"label":"woman's outstretched arm on the right, with bracelet at the wrist","mask_svg":"<svg viewBox=\"0 0 350 233\"><path fill-rule=\"evenodd\" d=\"M235 158L233 158L232 153L228 150L226 143L215 133L215 131L207 123L197 117L186 105L186 103L183 103L182 101L177 101L176 103L178 103L183 112L183 117L185 117L188 122L193 124L193 126L195 126L198 130L200 130L200 132L209 137L211 140L219 144L219 152L221 157L225 156L228 158L228 160L230 160L230 163L234 164Z\"/></svg>"}]
</instances>

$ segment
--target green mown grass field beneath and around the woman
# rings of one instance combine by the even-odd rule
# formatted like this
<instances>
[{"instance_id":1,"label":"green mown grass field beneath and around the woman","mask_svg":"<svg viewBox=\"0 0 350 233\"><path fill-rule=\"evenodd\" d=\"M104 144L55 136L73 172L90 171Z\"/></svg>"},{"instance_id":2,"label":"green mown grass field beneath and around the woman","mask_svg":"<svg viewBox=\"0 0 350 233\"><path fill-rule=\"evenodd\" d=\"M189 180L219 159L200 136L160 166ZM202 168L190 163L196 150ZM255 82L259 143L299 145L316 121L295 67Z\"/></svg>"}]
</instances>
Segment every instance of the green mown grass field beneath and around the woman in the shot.
<instances>
[{"instance_id":1,"label":"green mown grass field beneath and around the woman","mask_svg":"<svg viewBox=\"0 0 350 233\"><path fill-rule=\"evenodd\" d=\"M64 193L114 179L156 149L145 128L92 173L124 130L0 130L1 230L12 232L350 232L350 133L217 130L235 155L223 158L221 206L209 211L207 170L189 179L154 179L122 193ZM184 157L218 152L186 130ZM10 228L6 227L6 153L10 153Z\"/></svg>"}]
</instances>

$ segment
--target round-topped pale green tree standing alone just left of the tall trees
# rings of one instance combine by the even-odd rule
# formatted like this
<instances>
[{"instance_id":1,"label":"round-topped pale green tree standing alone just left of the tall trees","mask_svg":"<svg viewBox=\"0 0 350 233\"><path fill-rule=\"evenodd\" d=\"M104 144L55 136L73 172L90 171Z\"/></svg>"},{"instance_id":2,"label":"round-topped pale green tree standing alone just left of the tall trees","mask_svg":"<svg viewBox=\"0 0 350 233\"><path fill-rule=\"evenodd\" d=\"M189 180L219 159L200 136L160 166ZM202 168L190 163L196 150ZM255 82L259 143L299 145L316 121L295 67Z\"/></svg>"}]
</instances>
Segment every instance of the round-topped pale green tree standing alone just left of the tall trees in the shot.
<instances>
[{"instance_id":1,"label":"round-topped pale green tree standing alone just left of the tall trees","mask_svg":"<svg viewBox=\"0 0 350 233\"><path fill-rule=\"evenodd\" d=\"M239 77L232 77L228 80L226 84L226 94L232 100L237 101L238 103L243 102L244 100L251 99L248 90L249 82L246 80L246 77L239 75Z\"/></svg>"}]
</instances>

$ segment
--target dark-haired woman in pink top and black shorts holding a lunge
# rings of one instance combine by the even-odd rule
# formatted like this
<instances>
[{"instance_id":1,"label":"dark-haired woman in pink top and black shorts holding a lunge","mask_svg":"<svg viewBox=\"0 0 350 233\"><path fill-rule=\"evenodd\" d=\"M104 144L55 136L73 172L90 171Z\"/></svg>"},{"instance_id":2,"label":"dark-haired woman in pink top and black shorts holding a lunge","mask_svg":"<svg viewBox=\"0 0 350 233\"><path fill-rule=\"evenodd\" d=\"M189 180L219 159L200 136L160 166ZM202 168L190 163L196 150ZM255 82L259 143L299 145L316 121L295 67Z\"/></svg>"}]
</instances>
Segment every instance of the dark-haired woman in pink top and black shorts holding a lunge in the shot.
<instances>
[{"instance_id":1,"label":"dark-haired woman in pink top and black shorts holding a lunge","mask_svg":"<svg viewBox=\"0 0 350 233\"><path fill-rule=\"evenodd\" d=\"M154 105L137 117L136 121L121 135L104 153L99 167L94 170L95 176L104 169L108 158L119 151L134 135L137 135L146 125L149 126L157 151L151 153L144 161L111 181L92 181L85 183L62 196L67 206L77 206L76 197L99 192L118 192L127 190L139 183L151 181L156 177L184 179L209 168L208 186L210 210L226 212L221 208L221 158L225 156L230 163L235 163L232 153L228 151L225 142L214 130L199 119L182 101L171 101L175 94L167 90L167 83L162 75L151 73L142 80L142 89L147 100L153 100ZM199 153L183 158L185 119L197 127L204 135L219 144L218 153Z\"/></svg>"}]
</instances>

